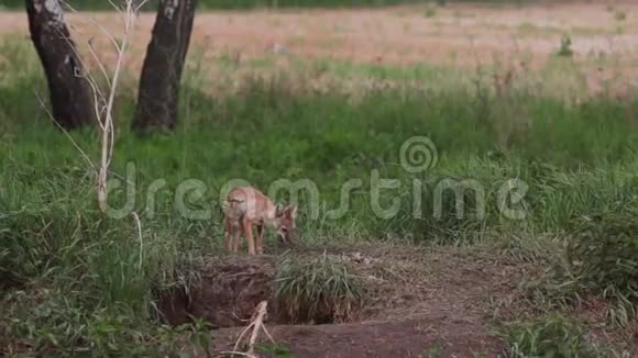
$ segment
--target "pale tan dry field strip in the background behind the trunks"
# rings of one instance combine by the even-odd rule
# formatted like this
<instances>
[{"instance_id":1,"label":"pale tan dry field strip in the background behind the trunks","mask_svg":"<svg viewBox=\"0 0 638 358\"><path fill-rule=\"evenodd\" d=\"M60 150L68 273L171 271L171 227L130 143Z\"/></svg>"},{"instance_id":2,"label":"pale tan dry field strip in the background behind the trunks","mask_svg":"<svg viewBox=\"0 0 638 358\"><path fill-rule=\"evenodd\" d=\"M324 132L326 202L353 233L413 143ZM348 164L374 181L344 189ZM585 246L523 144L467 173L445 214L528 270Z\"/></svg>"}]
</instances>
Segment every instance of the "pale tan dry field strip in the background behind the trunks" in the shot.
<instances>
[{"instance_id":1,"label":"pale tan dry field strip in the background behind the trunks","mask_svg":"<svg viewBox=\"0 0 638 358\"><path fill-rule=\"evenodd\" d=\"M618 19L618 13L625 19ZM193 44L209 60L230 56L245 63L286 53L298 58L355 64L425 63L472 70L501 64L510 70L528 70L544 68L562 35L568 34L581 75L594 91L600 91L605 80L635 75L638 48L635 16L638 4L629 1L200 12ZM0 13L0 35L18 34L26 38L25 20L21 13ZM80 44L91 38L105 55L108 42L92 22L113 34L122 27L112 13L72 13L67 20ZM132 74L139 74L153 21L152 13L140 15L128 66Z\"/></svg>"}]
</instances>

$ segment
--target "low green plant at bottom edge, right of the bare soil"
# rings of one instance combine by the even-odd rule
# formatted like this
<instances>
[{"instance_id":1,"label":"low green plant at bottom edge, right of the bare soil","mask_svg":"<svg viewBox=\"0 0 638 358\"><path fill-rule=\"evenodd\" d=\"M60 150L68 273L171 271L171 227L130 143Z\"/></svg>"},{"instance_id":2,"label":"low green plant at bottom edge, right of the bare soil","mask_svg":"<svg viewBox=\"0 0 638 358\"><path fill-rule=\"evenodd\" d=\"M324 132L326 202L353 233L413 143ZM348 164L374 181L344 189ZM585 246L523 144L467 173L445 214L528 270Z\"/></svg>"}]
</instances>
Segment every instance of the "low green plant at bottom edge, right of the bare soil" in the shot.
<instances>
[{"instance_id":1,"label":"low green plant at bottom edge, right of the bare soil","mask_svg":"<svg viewBox=\"0 0 638 358\"><path fill-rule=\"evenodd\" d=\"M510 357L588 358L598 357L573 321L550 314L507 328Z\"/></svg>"}]
</instances>

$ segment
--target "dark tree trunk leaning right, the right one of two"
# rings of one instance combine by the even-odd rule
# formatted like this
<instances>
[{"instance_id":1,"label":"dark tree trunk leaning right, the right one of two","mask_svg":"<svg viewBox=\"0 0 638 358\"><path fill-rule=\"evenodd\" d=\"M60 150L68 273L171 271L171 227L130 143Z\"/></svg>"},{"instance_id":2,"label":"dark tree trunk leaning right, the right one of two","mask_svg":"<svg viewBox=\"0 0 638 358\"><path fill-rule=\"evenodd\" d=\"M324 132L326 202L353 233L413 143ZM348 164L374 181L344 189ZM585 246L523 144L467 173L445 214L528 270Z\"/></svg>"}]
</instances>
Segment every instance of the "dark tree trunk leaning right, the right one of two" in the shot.
<instances>
[{"instance_id":1,"label":"dark tree trunk leaning right, the right one of two","mask_svg":"<svg viewBox=\"0 0 638 358\"><path fill-rule=\"evenodd\" d=\"M170 131L177 124L179 81L196 8L197 0L160 0L132 124L138 133Z\"/></svg>"}]
</instances>

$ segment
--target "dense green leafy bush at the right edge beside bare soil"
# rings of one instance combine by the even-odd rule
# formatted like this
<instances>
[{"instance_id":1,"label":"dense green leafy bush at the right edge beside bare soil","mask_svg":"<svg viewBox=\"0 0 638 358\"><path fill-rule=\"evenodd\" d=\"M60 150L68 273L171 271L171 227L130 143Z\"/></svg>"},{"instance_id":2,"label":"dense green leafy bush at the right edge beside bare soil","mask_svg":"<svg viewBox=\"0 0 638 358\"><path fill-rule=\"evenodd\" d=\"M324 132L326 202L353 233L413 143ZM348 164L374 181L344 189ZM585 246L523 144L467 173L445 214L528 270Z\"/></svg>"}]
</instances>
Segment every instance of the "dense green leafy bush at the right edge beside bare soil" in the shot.
<instances>
[{"instance_id":1,"label":"dense green leafy bush at the right edge beside bare soil","mask_svg":"<svg viewBox=\"0 0 638 358\"><path fill-rule=\"evenodd\" d=\"M573 306L592 297L609 302L609 322L627 326L638 306L638 211L636 177L632 195L610 203L605 211L592 211L573 220L564 257L559 256L528 290L550 310Z\"/></svg>"}]
</instances>

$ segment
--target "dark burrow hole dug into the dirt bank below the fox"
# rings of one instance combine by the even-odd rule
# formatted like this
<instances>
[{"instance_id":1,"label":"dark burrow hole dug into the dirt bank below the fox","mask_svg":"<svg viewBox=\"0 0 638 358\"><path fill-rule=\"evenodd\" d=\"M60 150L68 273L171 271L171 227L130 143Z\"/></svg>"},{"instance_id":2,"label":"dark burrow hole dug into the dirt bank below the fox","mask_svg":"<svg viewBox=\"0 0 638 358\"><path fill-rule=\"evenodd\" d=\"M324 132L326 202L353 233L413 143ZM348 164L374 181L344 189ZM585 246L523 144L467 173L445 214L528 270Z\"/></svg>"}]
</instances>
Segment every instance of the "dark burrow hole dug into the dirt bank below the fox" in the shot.
<instances>
[{"instance_id":1,"label":"dark burrow hole dug into the dirt bank below the fox","mask_svg":"<svg viewBox=\"0 0 638 358\"><path fill-rule=\"evenodd\" d=\"M268 301L271 324L330 324L337 312L319 310L314 316L301 314L293 320L275 299L276 257L226 257L207 262L199 269L200 279L188 289L179 288L160 294L156 304L170 325L204 318L215 328L245 326L256 305ZM297 317L299 318L299 317ZM349 321L349 322L353 322Z\"/></svg>"}]
</instances>

